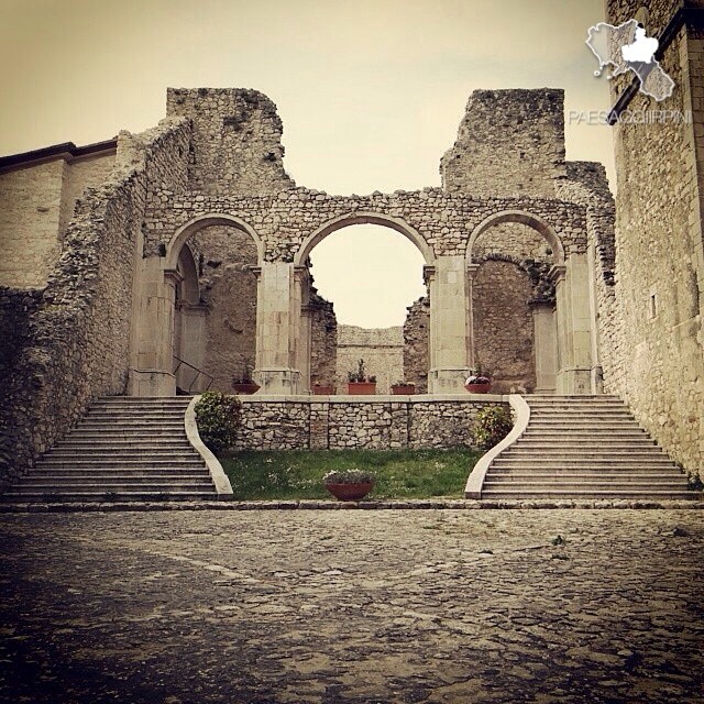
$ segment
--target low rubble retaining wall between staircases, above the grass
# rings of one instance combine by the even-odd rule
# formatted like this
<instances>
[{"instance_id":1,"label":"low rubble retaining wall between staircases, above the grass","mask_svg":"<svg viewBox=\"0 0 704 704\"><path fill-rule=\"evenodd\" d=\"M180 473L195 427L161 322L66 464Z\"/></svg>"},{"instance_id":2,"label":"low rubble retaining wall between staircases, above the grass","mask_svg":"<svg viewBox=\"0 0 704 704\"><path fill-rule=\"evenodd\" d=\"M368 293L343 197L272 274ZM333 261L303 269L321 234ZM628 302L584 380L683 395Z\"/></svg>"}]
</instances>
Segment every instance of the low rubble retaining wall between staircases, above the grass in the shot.
<instances>
[{"instance_id":1,"label":"low rubble retaining wall between staircases, above the grass","mask_svg":"<svg viewBox=\"0 0 704 704\"><path fill-rule=\"evenodd\" d=\"M503 396L369 398L241 396L237 450L387 450L472 447L472 428Z\"/></svg>"}]
</instances>

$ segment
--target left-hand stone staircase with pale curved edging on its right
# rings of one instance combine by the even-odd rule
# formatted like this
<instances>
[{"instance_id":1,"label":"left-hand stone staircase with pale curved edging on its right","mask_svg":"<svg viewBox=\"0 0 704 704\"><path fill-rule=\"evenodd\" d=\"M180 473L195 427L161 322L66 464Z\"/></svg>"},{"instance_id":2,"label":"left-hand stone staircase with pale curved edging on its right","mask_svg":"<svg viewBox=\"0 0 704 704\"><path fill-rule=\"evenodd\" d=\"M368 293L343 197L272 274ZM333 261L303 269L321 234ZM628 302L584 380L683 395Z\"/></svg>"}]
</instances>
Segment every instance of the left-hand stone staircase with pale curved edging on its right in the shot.
<instances>
[{"instance_id":1,"label":"left-hand stone staircase with pale curved edging on its right","mask_svg":"<svg viewBox=\"0 0 704 704\"><path fill-rule=\"evenodd\" d=\"M3 494L6 502L218 498L186 437L188 396L101 398Z\"/></svg>"}]
</instances>

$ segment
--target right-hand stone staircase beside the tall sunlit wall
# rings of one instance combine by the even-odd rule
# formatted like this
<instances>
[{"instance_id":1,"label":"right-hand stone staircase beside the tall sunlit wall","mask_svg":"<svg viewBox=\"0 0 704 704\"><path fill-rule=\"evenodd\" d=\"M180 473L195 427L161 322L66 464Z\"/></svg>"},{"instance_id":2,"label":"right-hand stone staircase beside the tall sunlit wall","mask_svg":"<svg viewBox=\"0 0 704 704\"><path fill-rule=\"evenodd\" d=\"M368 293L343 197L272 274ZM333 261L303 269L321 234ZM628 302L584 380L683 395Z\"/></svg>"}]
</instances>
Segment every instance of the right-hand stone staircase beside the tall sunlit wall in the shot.
<instances>
[{"instance_id":1,"label":"right-hand stone staircase beside the tall sunlit wall","mask_svg":"<svg viewBox=\"0 0 704 704\"><path fill-rule=\"evenodd\" d=\"M696 499L616 396L526 396L530 420L491 463L482 499Z\"/></svg>"}]
</instances>

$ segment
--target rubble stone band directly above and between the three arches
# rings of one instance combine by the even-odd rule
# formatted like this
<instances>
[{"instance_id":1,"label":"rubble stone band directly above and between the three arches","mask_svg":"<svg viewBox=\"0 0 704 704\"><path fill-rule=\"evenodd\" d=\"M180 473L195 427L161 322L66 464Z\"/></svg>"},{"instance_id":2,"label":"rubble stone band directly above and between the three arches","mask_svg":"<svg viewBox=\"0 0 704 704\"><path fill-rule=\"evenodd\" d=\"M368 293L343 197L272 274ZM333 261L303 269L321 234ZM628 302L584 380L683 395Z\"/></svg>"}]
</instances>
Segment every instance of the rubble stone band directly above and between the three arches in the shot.
<instances>
[{"instance_id":1,"label":"rubble stone band directly above and between the three arches","mask_svg":"<svg viewBox=\"0 0 704 704\"><path fill-rule=\"evenodd\" d=\"M231 194L175 194L155 189L153 206L145 220L146 253L156 254L160 244L168 245L176 230L197 219L221 213L248 223L264 243L267 262L305 261L302 244L315 231L338 221L373 222L359 213L378 213L402 219L422 233L422 242L436 256L464 256L472 231L486 218L520 210L542 219L560 233L566 255L586 252L586 212L583 206L559 199L480 197L444 193L440 188L418 191L330 196L308 188L284 190L277 196L238 196ZM396 223L392 222L395 227ZM334 230L334 228L332 228Z\"/></svg>"}]
</instances>

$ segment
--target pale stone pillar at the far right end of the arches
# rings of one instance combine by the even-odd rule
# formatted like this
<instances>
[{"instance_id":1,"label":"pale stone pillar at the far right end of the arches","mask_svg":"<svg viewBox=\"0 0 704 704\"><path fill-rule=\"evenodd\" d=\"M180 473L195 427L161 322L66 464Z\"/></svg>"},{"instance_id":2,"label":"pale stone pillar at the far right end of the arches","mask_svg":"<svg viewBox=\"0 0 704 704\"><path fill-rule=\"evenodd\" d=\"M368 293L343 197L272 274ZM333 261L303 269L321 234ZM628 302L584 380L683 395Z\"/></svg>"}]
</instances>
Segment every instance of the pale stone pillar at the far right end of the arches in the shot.
<instances>
[{"instance_id":1,"label":"pale stone pillar at the far right end of the arches","mask_svg":"<svg viewBox=\"0 0 704 704\"><path fill-rule=\"evenodd\" d=\"M592 385L592 336L588 262L586 254L572 254L565 266L554 266L558 316L558 394L594 393Z\"/></svg>"}]
</instances>

